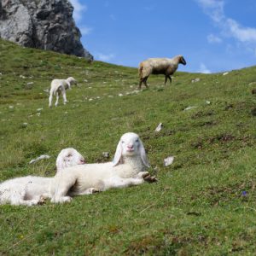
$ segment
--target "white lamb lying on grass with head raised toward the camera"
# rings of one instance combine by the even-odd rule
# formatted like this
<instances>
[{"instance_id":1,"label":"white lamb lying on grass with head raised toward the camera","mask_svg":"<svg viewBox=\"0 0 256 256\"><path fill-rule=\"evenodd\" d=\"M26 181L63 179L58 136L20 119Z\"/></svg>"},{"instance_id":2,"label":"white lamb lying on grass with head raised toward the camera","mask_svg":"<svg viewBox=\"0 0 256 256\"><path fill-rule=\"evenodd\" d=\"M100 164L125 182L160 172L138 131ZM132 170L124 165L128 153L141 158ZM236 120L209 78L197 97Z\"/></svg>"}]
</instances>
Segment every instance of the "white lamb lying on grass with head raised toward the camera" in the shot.
<instances>
[{"instance_id":1,"label":"white lamb lying on grass with head raised toward the camera","mask_svg":"<svg viewBox=\"0 0 256 256\"><path fill-rule=\"evenodd\" d=\"M113 162L73 166L57 172L51 183L51 201L71 201L74 195L89 195L111 188L156 181L149 167L143 143L136 133L125 133L116 148Z\"/></svg>"}]
</instances>

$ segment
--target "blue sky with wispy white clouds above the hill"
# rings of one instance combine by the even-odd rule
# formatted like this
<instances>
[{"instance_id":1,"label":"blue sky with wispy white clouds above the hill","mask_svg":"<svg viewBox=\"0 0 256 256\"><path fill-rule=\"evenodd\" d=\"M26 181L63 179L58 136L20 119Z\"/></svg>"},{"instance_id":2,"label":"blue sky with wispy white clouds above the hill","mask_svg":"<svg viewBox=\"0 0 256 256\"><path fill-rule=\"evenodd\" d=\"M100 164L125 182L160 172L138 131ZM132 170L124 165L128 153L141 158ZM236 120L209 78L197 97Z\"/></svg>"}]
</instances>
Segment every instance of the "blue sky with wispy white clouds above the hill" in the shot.
<instances>
[{"instance_id":1,"label":"blue sky with wispy white clouds above the hill","mask_svg":"<svg viewBox=\"0 0 256 256\"><path fill-rule=\"evenodd\" d=\"M255 0L70 0L95 60L137 67L183 55L185 72L256 65Z\"/></svg>"}]
</instances>

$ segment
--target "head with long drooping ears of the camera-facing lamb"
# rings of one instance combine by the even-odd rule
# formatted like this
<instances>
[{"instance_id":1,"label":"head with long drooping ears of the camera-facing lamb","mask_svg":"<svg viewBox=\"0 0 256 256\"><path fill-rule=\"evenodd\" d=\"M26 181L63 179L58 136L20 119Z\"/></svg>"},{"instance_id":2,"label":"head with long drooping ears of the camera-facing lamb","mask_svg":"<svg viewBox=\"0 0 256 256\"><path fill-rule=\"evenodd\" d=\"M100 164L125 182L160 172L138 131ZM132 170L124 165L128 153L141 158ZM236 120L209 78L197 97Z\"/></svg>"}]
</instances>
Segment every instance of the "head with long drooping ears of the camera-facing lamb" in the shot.
<instances>
[{"instance_id":1,"label":"head with long drooping ears of the camera-facing lamb","mask_svg":"<svg viewBox=\"0 0 256 256\"><path fill-rule=\"evenodd\" d=\"M119 140L113 158L113 166L117 166L122 161L122 156L132 157L137 155L141 157L143 165L149 167L143 142L136 133L127 132Z\"/></svg>"}]
</instances>

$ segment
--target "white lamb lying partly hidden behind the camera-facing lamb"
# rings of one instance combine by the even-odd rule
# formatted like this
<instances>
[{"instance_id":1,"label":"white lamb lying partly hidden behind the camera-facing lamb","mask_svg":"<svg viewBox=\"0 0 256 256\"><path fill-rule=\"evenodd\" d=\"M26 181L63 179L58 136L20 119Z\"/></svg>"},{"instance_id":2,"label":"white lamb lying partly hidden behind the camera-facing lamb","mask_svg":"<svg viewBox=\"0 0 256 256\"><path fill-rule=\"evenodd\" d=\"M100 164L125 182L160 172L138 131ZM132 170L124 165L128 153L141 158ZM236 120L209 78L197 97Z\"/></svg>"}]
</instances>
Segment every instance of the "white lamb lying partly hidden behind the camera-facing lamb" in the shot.
<instances>
[{"instance_id":1,"label":"white lamb lying partly hidden behind the camera-facing lamb","mask_svg":"<svg viewBox=\"0 0 256 256\"><path fill-rule=\"evenodd\" d=\"M74 148L61 150L56 160L57 172L63 168L84 165L84 157ZM49 198L53 177L15 177L0 183L0 204L32 206Z\"/></svg>"}]
</instances>

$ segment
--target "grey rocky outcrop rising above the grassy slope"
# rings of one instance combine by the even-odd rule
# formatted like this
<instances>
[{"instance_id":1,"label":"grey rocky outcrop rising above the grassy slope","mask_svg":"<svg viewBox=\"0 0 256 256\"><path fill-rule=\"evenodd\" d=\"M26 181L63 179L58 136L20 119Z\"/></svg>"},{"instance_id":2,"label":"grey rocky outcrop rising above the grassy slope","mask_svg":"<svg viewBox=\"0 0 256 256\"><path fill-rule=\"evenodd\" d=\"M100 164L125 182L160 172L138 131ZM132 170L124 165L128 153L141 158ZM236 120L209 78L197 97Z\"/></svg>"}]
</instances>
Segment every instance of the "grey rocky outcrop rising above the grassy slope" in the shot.
<instances>
[{"instance_id":1,"label":"grey rocky outcrop rising above the grassy slope","mask_svg":"<svg viewBox=\"0 0 256 256\"><path fill-rule=\"evenodd\" d=\"M0 1L0 38L93 60L80 42L68 0Z\"/></svg>"}]
</instances>

